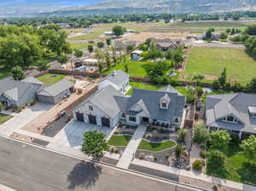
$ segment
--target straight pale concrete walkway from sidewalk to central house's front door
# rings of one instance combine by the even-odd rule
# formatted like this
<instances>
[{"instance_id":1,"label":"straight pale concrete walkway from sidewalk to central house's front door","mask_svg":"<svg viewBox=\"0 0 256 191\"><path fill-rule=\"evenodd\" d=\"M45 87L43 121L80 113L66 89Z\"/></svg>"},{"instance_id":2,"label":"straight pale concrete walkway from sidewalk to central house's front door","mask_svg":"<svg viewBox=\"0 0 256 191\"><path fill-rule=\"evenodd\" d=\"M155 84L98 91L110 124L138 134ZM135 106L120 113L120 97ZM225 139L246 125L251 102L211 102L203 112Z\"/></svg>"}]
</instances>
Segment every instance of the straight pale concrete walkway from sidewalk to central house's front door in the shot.
<instances>
[{"instance_id":1,"label":"straight pale concrete walkway from sidewalk to central house's front door","mask_svg":"<svg viewBox=\"0 0 256 191\"><path fill-rule=\"evenodd\" d=\"M125 148L125 152L123 153L121 159L119 159L118 166L124 169L128 169L133 155L135 154L137 147L139 146L140 142L142 141L143 135L147 130L146 125L139 125L137 130L135 131L134 135L131 137L131 141Z\"/></svg>"}]
</instances>

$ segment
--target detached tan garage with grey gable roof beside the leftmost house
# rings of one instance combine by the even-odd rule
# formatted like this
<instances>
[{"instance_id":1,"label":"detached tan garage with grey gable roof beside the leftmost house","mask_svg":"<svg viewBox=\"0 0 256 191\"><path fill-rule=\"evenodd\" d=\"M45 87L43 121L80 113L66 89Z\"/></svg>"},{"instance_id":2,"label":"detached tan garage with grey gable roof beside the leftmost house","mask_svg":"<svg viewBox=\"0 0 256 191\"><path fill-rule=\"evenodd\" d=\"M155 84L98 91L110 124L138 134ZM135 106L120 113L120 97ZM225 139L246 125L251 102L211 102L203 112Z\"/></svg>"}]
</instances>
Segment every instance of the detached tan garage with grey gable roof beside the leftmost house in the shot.
<instances>
[{"instance_id":1,"label":"detached tan garage with grey gable roof beside the leftmost house","mask_svg":"<svg viewBox=\"0 0 256 191\"><path fill-rule=\"evenodd\" d=\"M56 104L73 93L73 86L74 82L64 78L60 82L39 91L38 101Z\"/></svg>"}]
</instances>

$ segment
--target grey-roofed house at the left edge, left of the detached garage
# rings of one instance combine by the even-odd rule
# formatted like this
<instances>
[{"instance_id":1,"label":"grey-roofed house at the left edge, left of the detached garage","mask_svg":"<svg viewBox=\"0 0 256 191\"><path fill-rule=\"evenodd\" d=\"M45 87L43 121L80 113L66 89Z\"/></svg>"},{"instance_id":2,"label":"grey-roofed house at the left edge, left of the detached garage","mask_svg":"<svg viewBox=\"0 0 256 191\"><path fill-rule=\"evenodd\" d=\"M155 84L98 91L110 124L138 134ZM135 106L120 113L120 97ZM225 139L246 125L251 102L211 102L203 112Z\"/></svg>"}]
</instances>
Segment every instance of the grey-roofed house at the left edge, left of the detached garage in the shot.
<instances>
[{"instance_id":1,"label":"grey-roofed house at the left edge, left of the detached garage","mask_svg":"<svg viewBox=\"0 0 256 191\"><path fill-rule=\"evenodd\" d=\"M16 81L11 78L0 80L0 102L7 107L21 107L36 99L36 94L44 88L37 78Z\"/></svg>"}]
</instances>

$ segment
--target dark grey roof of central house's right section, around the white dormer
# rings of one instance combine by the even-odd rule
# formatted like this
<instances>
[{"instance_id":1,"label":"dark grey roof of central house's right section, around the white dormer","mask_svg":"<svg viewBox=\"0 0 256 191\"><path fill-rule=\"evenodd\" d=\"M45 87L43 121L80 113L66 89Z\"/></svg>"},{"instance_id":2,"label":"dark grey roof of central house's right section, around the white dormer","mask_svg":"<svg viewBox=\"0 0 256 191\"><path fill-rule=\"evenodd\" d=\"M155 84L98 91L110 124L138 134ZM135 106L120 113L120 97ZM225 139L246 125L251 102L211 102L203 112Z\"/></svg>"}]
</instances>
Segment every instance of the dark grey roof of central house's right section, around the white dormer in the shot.
<instances>
[{"instance_id":1,"label":"dark grey roof of central house's right section, around the white dormer","mask_svg":"<svg viewBox=\"0 0 256 191\"><path fill-rule=\"evenodd\" d=\"M162 109L160 108L160 100L166 95L171 101L167 109ZM143 101L143 105L141 100ZM172 121L173 117L183 116L185 97L180 96L177 93L135 89L127 103L125 113L131 115L136 114L132 111L132 107L139 103L142 108L145 108L143 111L148 113L153 119Z\"/></svg>"}]
</instances>

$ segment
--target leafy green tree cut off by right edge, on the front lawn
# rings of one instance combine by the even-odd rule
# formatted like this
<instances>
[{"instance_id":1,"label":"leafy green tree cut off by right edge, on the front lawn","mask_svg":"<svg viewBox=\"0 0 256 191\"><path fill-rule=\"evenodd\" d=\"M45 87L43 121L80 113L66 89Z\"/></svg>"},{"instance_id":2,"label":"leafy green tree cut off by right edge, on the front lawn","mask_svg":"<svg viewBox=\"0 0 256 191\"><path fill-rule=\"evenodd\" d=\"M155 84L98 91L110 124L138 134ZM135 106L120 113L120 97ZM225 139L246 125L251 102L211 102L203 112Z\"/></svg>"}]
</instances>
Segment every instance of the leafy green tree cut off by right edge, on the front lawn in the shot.
<instances>
[{"instance_id":1,"label":"leafy green tree cut off by right edge, on the front lawn","mask_svg":"<svg viewBox=\"0 0 256 191\"><path fill-rule=\"evenodd\" d=\"M254 161L256 158L256 136L249 136L241 142L241 149L247 159Z\"/></svg>"}]
</instances>

